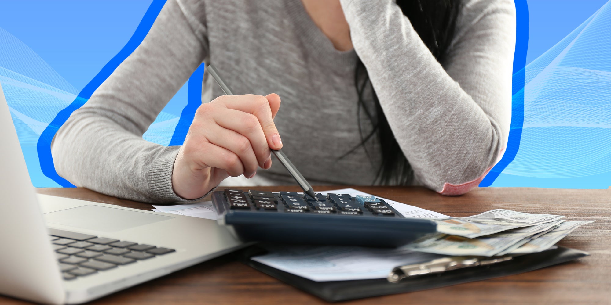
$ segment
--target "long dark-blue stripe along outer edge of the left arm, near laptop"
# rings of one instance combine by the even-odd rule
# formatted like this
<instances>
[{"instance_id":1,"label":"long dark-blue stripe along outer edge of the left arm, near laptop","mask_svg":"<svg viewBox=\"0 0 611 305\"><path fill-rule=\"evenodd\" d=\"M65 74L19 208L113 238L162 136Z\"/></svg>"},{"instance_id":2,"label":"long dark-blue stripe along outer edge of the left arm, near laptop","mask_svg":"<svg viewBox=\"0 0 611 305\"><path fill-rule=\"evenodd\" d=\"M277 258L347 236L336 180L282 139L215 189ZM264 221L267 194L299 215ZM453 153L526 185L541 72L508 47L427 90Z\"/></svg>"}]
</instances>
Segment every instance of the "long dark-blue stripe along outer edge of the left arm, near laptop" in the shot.
<instances>
[{"instance_id":1,"label":"long dark-blue stripe along outer edge of the left arm, near laptop","mask_svg":"<svg viewBox=\"0 0 611 305\"><path fill-rule=\"evenodd\" d=\"M51 141L53 140L53 137L55 136L59 127L61 127L68 120L68 117L70 117L72 112L85 104L85 102L87 102L87 100L93 94L93 91L100 87L102 82L106 81L108 76L114 72L117 66L119 66L123 60L130 56L130 54L134 52L140 43L142 43L142 40L144 40L144 37L146 37L148 34L148 30L150 30L153 26L153 23L159 15L159 12L161 12L164 4L166 4L166 0L153 0L151 5L148 6L147 12L144 13L144 17L142 17L136 31L131 36L130 40L127 41L126 45L123 46L117 55L112 57L112 59L106 63L106 65L104 65L102 70L100 70L100 72L93 77L93 79L81 90L81 92L79 92L78 96L76 96L75 100L71 102L68 107L65 107L57 113L56 117L53 118L53 121L49 123L49 126L45 128L40 135L40 138L38 138L36 150L38 152L40 169L45 176L51 178L62 187L76 186L68 182L66 179L60 177L55 170L53 156L51 156Z\"/></svg>"}]
</instances>

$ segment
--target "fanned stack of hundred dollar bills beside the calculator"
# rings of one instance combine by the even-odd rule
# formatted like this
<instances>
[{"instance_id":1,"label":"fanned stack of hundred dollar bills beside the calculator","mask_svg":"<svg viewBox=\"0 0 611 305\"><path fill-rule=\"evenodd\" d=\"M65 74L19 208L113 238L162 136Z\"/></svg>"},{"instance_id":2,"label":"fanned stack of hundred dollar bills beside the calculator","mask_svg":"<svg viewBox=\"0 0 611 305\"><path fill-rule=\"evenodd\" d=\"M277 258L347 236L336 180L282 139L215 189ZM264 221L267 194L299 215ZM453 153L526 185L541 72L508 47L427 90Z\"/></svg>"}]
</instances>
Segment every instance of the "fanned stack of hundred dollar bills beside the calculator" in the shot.
<instances>
[{"instance_id":1,"label":"fanned stack of hundred dollar bills beside the calculator","mask_svg":"<svg viewBox=\"0 0 611 305\"><path fill-rule=\"evenodd\" d=\"M594 221L564 216L489 210L478 215L435 220L438 234L417 240L412 251L452 256L500 256L545 251L571 231Z\"/></svg>"}]
</instances>

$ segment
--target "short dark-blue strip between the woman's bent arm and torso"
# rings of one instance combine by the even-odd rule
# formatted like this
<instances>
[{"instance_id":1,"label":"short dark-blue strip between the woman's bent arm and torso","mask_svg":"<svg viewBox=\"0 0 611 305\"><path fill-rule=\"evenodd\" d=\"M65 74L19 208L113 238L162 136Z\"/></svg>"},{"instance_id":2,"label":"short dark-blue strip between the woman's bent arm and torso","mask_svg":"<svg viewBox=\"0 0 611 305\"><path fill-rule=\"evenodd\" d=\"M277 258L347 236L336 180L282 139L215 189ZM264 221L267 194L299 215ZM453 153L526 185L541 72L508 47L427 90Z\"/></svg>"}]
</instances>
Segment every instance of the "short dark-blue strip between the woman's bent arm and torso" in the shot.
<instances>
[{"instance_id":1,"label":"short dark-blue strip between the woman's bent arm and torso","mask_svg":"<svg viewBox=\"0 0 611 305\"><path fill-rule=\"evenodd\" d=\"M195 112L199 106L202 106L202 82L203 82L203 71L205 64L202 63L189 77L187 84L187 105L183 108L180 113L180 119L178 124L174 128L174 134L168 146L183 145L185 137L193 123Z\"/></svg>"}]
</instances>

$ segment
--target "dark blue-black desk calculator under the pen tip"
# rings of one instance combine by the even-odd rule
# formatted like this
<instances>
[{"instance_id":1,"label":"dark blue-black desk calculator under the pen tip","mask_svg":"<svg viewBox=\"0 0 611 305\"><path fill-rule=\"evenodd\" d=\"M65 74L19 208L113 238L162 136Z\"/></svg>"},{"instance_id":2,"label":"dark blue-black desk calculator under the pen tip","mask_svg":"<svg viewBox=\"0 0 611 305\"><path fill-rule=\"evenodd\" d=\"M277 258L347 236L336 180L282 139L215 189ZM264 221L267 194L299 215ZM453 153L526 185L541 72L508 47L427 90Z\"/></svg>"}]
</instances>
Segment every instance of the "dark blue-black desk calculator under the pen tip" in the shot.
<instances>
[{"instance_id":1,"label":"dark blue-black desk calculator under the pen tip","mask_svg":"<svg viewBox=\"0 0 611 305\"><path fill-rule=\"evenodd\" d=\"M219 224L244 242L397 247L437 228L371 195L225 189L212 202Z\"/></svg>"}]
</instances>

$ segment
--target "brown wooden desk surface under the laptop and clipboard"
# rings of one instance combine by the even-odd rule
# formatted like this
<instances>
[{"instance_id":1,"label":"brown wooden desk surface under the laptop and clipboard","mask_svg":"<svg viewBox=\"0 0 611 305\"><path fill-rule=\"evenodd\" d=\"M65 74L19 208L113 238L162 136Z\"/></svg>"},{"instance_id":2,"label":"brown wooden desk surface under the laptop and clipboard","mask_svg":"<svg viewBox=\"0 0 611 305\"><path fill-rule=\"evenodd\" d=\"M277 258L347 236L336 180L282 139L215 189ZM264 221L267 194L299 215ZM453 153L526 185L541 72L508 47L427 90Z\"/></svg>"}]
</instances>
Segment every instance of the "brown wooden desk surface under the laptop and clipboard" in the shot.
<instances>
[{"instance_id":1,"label":"brown wooden desk surface under the laptop and clipboard","mask_svg":"<svg viewBox=\"0 0 611 305\"><path fill-rule=\"evenodd\" d=\"M341 187L315 187L331 190ZM575 262L514 276L420 292L350 301L350 304L611 304L611 190L478 188L447 197L419 187L356 187L364 192L453 217L491 209L565 215L596 220L560 245L591 253ZM258 187L298 191L296 187ZM42 188L38 192L150 210L149 204L101 195L84 188ZM0 296L1 304L27 304ZM90 304L324 304L228 256L137 285ZM342 304L345 304L342 303Z\"/></svg>"}]
</instances>

